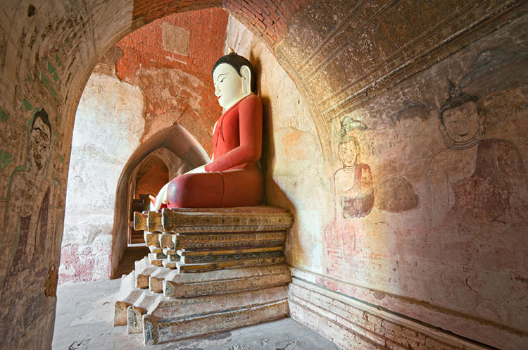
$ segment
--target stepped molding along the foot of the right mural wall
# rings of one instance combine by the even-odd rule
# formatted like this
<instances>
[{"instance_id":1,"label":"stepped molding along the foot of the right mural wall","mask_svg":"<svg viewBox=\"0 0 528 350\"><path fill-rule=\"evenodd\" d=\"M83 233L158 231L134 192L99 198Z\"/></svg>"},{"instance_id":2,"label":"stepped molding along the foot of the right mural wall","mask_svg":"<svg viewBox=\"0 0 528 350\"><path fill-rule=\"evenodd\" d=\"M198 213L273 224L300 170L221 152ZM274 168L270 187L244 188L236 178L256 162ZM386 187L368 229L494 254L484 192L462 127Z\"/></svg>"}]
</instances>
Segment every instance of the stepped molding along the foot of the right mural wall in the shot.
<instances>
[{"instance_id":1,"label":"stepped molding along the foot of the right mural wall","mask_svg":"<svg viewBox=\"0 0 528 350\"><path fill-rule=\"evenodd\" d=\"M522 337L498 337L493 325L306 270L291 268L291 273L291 318L343 349L524 349ZM437 324L420 322L425 315L434 315Z\"/></svg>"}]
</instances>

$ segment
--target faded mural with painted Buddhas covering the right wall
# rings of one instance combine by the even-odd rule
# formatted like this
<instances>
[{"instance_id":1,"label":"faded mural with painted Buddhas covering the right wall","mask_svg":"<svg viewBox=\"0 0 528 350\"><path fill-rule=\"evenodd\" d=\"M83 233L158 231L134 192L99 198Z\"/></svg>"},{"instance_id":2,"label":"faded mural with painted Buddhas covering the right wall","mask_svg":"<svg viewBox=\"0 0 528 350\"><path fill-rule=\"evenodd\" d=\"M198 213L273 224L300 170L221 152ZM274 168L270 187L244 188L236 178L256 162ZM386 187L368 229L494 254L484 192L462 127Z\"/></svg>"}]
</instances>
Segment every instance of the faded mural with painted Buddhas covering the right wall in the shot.
<instances>
[{"instance_id":1,"label":"faded mural with painted Buddhas covering the right wall","mask_svg":"<svg viewBox=\"0 0 528 350\"><path fill-rule=\"evenodd\" d=\"M520 326L528 317L521 27L503 28L332 120L328 275L528 331Z\"/></svg>"}]
</instances>

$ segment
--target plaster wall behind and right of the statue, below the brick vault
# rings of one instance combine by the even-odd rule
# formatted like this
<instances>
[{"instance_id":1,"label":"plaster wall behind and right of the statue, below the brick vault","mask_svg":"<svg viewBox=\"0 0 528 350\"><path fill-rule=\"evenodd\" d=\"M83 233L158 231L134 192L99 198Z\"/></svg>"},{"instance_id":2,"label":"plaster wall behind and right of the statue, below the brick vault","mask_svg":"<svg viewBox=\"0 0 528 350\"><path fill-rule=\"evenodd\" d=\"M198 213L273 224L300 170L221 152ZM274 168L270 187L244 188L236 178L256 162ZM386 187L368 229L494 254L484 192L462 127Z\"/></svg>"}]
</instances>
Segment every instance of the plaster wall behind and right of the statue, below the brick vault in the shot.
<instances>
[{"instance_id":1,"label":"plaster wall behind and right of the statue, below the brick vault","mask_svg":"<svg viewBox=\"0 0 528 350\"><path fill-rule=\"evenodd\" d=\"M325 122L330 147L318 138L321 133L303 103L306 86L296 87L237 20L230 18L227 28L227 45L250 57L260 72L267 201L296 217L287 249L295 279L483 344L501 349L527 344L522 336L528 318L528 134L523 121L528 80L522 68L528 63L522 39L527 18L365 101L337 108ZM301 41L303 34L295 33ZM332 64L335 70L325 79L337 85L340 70ZM451 121L465 125L460 135L470 133L471 144L462 149L453 146L460 137L453 136L453 125L450 129L446 121L443 129L439 118L450 94L477 101L478 111ZM316 103L319 99L315 96ZM448 148L444 134L454 148ZM352 156L341 149L347 143ZM353 165L352 175L346 173L346 161ZM332 308L329 313L310 310L332 304L325 296L310 299L299 296L296 287L291 290L292 313L301 322L318 327L319 318L331 324L336 321L329 315L339 318ZM374 335L367 342L341 340L353 328L345 318L335 330L342 336L336 341L345 347L387 345L394 339L382 318L372 330L368 323L357 324L384 340ZM427 337L420 337L426 346ZM420 337L397 343L416 347ZM444 333L427 342L451 349L463 347L465 340Z\"/></svg>"}]
</instances>

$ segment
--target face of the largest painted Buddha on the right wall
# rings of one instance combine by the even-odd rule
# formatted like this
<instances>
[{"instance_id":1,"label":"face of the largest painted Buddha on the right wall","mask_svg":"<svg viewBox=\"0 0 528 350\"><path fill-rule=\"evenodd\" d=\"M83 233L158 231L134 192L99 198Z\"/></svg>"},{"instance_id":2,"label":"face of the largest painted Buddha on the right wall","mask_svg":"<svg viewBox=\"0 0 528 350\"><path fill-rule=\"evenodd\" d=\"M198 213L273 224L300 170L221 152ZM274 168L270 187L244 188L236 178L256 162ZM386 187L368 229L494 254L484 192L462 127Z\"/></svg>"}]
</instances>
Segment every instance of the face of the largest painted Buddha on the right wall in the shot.
<instances>
[{"instance_id":1,"label":"face of the largest painted Buddha on the right wall","mask_svg":"<svg viewBox=\"0 0 528 350\"><path fill-rule=\"evenodd\" d=\"M479 111L473 101L444 111L445 132L455 142L466 142L479 132Z\"/></svg>"}]
</instances>

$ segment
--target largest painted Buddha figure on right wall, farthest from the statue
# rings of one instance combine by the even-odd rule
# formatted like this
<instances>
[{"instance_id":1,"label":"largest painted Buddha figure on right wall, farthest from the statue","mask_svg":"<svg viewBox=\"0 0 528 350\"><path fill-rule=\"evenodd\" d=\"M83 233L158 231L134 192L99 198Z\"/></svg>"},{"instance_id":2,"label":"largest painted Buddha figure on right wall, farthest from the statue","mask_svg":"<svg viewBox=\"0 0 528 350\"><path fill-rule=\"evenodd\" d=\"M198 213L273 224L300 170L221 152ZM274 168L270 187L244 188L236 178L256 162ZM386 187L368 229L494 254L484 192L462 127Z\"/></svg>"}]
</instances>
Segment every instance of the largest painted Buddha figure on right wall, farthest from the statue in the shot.
<instances>
[{"instance_id":1,"label":"largest painted Buddha figure on right wall, farthest from the statue","mask_svg":"<svg viewBox=\"0 0 528 350\"><path fill-rule=\"evenodd\" d=\"M506 139L484 138L478 96L450 82L439 112L446 149L430 164L432 227L450 218L464 222L515 222L525 215L528 177L517 147Z\"/></svg>"}]
</instances>

